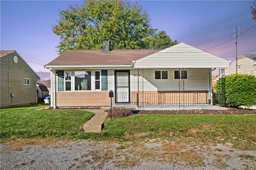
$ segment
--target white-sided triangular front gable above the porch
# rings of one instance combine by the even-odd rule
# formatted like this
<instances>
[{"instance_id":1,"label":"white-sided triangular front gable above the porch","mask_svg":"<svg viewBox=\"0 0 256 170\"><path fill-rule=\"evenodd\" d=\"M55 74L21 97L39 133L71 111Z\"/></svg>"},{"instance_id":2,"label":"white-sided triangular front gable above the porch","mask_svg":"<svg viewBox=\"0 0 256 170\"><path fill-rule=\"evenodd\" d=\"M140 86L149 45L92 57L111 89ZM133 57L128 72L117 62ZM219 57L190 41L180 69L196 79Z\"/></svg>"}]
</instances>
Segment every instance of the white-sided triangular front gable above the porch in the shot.
<instances>
[{"instance_id":1,"label":"white-sided triangular front gable above the porch","mask_svg":"<svg viewBox=\"0 0 256 170\"><path fill-rule=\"evenodd\" d=\"M226 68L228 60L179 43L135 61L135 68Z\"/></svg>"}]
</instances>

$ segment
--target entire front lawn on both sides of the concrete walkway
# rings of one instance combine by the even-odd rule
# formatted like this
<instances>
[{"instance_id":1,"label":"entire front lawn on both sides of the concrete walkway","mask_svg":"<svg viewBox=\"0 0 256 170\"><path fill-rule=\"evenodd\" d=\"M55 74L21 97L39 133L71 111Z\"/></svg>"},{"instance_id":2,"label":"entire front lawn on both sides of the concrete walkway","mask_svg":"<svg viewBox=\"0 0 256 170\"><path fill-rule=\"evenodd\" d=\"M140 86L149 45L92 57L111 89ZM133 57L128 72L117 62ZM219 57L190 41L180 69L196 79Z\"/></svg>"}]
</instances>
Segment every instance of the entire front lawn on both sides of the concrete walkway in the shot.
<instances>
[{"instance_id":1,"label":"entire front lawn on both sides of the concrete walkway","mask_svg":"<svg viewBox=\"0 0 256 170\"><path fill-rule=\"evenodd\" d=\"M78 109L1 109L1 143L16 139L93 139L138 141L165 139L182 143L232 143L255 150L256 115L135 115L107 118L100 134L84 133L94 114Z\"/></svg>"}]
</instances>

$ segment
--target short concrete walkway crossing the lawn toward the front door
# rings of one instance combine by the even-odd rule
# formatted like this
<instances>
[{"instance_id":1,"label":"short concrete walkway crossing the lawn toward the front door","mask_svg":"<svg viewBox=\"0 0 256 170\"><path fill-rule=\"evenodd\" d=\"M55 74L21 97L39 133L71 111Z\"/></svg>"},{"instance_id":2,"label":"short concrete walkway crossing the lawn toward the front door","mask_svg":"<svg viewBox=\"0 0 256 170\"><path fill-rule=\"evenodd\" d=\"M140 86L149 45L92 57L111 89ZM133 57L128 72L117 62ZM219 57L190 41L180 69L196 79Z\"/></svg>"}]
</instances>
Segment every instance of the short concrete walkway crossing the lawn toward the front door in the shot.
<instances>
[{"instance_id":1,"label":"short concrete walkway crossing the lawn toward the front door","mask_svg":"<svg viewBox=\"0 0 256 170\"><path fill-rule=\"evenodd\" d=\"M95 115L90 120L84 123L83 125L84 132L100 133L103 127L103 122L108 115L108 113L105 112L105 110L108 110L108 109L109 107L101 107L100 109L83 109L85 111L90 111L92 113L95 113Z\"/></svg>"}]
</instances>

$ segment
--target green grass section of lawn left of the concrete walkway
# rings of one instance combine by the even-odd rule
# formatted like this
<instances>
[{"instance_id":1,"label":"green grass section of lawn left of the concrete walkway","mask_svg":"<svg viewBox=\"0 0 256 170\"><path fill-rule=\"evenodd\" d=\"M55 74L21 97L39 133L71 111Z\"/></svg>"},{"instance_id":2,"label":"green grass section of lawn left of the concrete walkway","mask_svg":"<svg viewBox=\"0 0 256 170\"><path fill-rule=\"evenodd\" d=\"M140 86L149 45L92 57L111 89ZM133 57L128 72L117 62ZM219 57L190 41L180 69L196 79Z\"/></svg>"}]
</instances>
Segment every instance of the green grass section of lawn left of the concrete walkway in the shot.
<instances>
[{"instance_id":1,"label":"green grass section of lawn left of the concrete walkway","mask_svg":"<svg viewBox=\"0 0 256 170\"><path fill-rule=\"evenodd\" d=\"M17 138L82 138L82 125L94 115L75 109L35 110L40 107L1 109L1 143Z\"/></svg>"}]
</instances>

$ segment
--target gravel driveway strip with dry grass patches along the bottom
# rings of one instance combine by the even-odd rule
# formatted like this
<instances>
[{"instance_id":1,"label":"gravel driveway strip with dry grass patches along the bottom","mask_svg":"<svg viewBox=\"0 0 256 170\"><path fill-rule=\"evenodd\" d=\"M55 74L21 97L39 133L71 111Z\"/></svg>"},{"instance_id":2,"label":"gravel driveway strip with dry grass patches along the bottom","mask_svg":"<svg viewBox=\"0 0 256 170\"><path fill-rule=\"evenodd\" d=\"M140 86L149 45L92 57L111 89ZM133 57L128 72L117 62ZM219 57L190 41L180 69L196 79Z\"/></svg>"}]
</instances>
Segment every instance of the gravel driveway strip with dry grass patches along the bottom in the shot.
<instances>
[{"instance_id":1,"label":"gravel driveway strip with dry grass patches along the bottom","mask_svg":"<svg viewBox=\"0 0 256 170\"><path fill-rule=\"evenodd\" d=\"M1 145L1 170L256 170L256 151L232 144L78 140L54 145Z\"/></svg>"}]
</instances>

